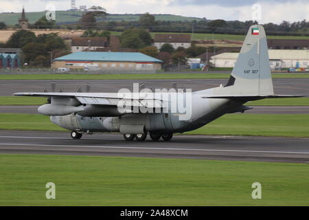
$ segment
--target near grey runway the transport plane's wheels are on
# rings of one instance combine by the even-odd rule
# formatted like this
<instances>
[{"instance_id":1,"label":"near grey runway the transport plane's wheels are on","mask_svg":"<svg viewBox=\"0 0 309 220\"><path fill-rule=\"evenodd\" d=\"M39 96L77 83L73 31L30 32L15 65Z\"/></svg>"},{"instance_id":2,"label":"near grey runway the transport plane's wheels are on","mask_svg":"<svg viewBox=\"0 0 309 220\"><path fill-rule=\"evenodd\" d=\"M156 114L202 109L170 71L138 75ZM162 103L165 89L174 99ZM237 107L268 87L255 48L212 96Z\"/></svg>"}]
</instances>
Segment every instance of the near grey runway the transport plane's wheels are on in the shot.
<instances>
[{"instance_id":1,"label":"near grey runway the transport plane's wheels are on","mask_svg":"<svg viewBox=\"0 0 309 220\"><path fill-rule=\"evenodd\" d=\"M170 142L126 142L120 134L0 131L0 153L222 159L309 163L309 138L176 135Z\"/></svg>"}]
</instances>

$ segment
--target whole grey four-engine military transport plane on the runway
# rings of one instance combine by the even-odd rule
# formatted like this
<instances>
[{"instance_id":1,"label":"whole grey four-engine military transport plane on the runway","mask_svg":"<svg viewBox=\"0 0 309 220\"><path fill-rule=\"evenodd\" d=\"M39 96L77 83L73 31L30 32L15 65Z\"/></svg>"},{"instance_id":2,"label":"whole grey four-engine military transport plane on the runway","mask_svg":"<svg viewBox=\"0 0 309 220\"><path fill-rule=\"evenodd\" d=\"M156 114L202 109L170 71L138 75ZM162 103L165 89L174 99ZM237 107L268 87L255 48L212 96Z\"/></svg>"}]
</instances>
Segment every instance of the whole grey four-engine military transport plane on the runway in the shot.
<instances>
[{"instance_id":1,"label":"whole grey four-engine military transport plane on the runway","mask_svg":"<svg viewBox=\"0 0 309 220\"><path fill-rule=\"evenodd\" d=\"M252 109L244 103L285 98L273 92L266 34L252 25L226 85L201 91L119 91L107 93L26 92L14 96L47 97L38 108L73 139L93 132L120 132L125 140L171 140L173 133L198 129L225 113ZM299 97L299 96L297 96ZM179 104L181 103L181 104ZM176 106L176 107L175 107ZM182 108L180 108L181 106Z\"/></svg>"}]
</instances>

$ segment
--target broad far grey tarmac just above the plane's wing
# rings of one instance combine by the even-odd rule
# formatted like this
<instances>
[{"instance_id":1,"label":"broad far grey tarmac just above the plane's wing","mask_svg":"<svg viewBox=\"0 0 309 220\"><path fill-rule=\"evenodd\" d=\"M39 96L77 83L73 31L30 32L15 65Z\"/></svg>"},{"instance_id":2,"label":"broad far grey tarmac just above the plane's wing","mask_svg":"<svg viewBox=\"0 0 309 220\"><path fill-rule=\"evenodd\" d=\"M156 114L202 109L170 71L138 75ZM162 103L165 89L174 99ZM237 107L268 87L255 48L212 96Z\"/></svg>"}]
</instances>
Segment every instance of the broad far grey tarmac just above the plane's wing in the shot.
<instances>
[{"instance_id":1,"label":"broad far grey tarmac just above the plane's wing","mask_svg":"<svg viewBox=\"0 0 309 220\"><path fill-rule=\"evenodd\" d=\"M133 83L147 83L156 88L172 88L176 81L178 87L197 91L225 85L227 79L187 79L187 80L54 80L56 91L76 91L79 85L91 84L93 92L117 92L127 88L133 91ZM12 96L16 92L41 92L43 87L50 90L50 80L0 80L0 96ZM273 78L275 94L309 96L309 78Z\"/></svg>"}]
</instances>

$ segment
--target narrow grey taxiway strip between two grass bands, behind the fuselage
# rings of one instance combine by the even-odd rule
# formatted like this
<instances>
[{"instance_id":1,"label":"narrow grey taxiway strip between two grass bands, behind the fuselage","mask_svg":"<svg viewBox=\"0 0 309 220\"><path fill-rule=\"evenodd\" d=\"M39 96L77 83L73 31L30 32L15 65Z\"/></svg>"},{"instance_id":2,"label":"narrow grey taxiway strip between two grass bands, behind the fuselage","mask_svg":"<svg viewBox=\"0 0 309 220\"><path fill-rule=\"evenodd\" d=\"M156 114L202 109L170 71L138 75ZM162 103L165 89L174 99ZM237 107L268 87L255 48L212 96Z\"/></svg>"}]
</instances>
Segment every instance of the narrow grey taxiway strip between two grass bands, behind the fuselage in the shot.
<instances>
[{"instance_id":1,"label":"narrow grey taxiway strip between two grass bands, behind the fuselage","mask_svg":"<svg viewBox=\"0 0 309 220\"><path fill-rule=\"evenodd\" d=\"M250 105L248 103L247 105ZM38 114L38 105L0 105L0 113ZM309 106L253 106L249 114L309 114Z\"/></svg>"}]
</instances>

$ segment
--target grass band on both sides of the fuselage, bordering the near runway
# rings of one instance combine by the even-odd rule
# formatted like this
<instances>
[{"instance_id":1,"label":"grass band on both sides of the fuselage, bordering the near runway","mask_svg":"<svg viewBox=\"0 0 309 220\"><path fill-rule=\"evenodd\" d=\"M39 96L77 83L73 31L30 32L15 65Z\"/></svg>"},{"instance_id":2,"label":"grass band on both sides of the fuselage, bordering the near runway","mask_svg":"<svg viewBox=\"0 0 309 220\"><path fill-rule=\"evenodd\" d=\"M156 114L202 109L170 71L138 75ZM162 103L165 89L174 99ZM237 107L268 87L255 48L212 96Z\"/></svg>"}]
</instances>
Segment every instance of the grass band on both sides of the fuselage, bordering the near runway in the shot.
<instances>
[{"instance_id":1,"label":"grass band on both sides of the fuselage, bordering the near runway","mask_svg":"<svg viewBox=\"0 0 309 220\"><path fill-rule=\"evenodd\" d=\"M66 131L49 122L48 116L13 113L0 114L0 129ZM200 129L185 134L309 137L309 114L227 114Z\"/></svg>"}]
</instances>

